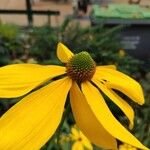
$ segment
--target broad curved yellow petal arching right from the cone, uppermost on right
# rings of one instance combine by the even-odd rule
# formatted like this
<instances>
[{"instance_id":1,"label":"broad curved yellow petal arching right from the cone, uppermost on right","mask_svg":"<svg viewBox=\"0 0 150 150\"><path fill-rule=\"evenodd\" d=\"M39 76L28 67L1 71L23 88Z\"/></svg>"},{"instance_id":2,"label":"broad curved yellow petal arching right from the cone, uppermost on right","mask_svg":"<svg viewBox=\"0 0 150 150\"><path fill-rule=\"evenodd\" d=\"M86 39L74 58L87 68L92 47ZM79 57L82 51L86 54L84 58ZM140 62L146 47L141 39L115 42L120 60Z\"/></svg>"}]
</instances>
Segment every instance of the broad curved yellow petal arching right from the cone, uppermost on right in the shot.
<instances>
[{"instance_id":1,"label":"broad curved yellow petal arching right from the cone, uppermost on right","mask_svg":"<svg viewBox=\"0 0 150 150\"><path fill-rule=\"evenodd\" d=\"M100 81L105 80L105 85L117 89L130 97L134 102L144 103L143 91L140 84L129 76L113 69L97 68L94 75Z\"/></svg>"}]
</instances>

